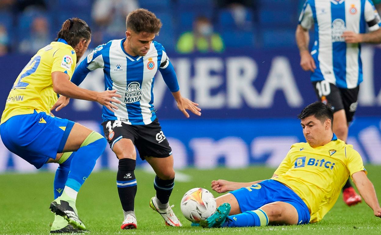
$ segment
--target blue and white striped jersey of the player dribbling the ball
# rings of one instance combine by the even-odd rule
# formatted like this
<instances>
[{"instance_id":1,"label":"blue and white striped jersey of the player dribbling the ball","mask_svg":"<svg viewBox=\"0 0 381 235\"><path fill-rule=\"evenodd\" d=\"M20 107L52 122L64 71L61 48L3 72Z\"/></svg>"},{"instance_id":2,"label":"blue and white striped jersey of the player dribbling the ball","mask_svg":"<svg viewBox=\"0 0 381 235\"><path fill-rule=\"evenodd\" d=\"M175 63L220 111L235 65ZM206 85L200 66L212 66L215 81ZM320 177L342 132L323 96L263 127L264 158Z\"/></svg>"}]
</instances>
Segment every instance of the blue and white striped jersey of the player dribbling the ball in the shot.
<instances>
[{"instance_id":1,"label":"blue and white striped jersey of the player dribbling the ball","mask_svg":"<svg viewBox=\"0 0 381 235\"><path fill-rule=\"evenodd\" d=\"M91 70L102 68L105 90L117 90L122 101L115 104L118 109L111 112L102 109L103 120L120 120L130 125L147 125L155 120L154 75L157 70L172 92L179 90L173 66L163 46L153 41L145 56L131 56L123 48L126 40L112 40L96 47L75 70L72 82L79 85ZM168 70L168 71L166 71Z\"/></svg>"}]
</instances>

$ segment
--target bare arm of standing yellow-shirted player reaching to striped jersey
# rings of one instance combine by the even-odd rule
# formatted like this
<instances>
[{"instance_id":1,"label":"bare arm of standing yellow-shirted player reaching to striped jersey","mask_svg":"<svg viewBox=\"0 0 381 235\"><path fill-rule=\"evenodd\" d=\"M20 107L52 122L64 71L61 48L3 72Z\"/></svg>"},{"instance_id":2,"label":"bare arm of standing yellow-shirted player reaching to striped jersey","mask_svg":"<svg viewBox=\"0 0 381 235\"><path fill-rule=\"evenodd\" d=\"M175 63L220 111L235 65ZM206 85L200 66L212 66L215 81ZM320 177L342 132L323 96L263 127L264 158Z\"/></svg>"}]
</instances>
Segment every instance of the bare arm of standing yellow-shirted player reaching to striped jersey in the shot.
<instances>
[{"instance_id":1,"label":"bare arm of standing yellow-shirted player reaching to striped jersey","mask_svg":"<svg viewBox=\"0 0 381 235\"><path fill-rule=\"evenodd\" d=\"M115 94L116 90L96 92L79 88L69 81L69 75L59 71L53 72L51 78L53 82L53 90L57 94L74 99L96 101L112 112L114 112L113 109L118 109L117 106L112 104L112 102L120 104L120 101L113 99L113 97L122 97L120 94Z\"/></svg>"}]
</instances>

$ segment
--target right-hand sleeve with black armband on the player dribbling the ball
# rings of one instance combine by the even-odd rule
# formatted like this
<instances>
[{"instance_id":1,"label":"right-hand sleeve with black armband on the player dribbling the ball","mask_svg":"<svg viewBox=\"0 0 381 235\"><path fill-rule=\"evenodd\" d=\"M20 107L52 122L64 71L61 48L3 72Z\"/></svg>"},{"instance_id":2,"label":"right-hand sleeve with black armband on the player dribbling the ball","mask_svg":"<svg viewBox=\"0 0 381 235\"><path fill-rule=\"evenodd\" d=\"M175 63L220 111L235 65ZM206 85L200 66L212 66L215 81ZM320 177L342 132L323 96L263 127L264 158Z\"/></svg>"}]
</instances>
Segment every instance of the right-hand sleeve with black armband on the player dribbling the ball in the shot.
<instances>
[{"instance_id":1,"label":"right-hand sleeve with black armband on the player dribbling the ball","mask_svg":"<svg viewBox=\"0 0 381 235\"><path fill-rule=\"evenodd\" d=\"M171 92L179 91L180 87L177 81L176 72L174 72L174 67L164 50L163 50L162 59L160 61L159 70L169 90Z\"/></svg>"}]
</instances>

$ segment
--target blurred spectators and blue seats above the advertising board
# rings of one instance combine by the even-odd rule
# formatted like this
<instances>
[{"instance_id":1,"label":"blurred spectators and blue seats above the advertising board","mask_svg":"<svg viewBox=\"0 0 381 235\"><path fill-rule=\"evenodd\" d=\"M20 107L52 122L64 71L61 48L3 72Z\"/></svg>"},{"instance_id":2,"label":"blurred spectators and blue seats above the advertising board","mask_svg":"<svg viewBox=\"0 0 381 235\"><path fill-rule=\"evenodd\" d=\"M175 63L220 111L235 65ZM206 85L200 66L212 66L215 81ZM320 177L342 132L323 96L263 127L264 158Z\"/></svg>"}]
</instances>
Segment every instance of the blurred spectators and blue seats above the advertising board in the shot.
<instances>
[{"instance_id":1,"label":"blurred spectators and blue seats above the advertising board","mask_svg":"<svg viewBox=\"0 0 381 235\"><path fill-rule=\"evenodd\" d=\"M92 48L123 38L125 17L136 8L146 8L162 20L157 41L170 51L293 48L303 4L304 0L0 0L0 55L34 54L72 17L90 25Z\"/></svg>"}]
</instances>

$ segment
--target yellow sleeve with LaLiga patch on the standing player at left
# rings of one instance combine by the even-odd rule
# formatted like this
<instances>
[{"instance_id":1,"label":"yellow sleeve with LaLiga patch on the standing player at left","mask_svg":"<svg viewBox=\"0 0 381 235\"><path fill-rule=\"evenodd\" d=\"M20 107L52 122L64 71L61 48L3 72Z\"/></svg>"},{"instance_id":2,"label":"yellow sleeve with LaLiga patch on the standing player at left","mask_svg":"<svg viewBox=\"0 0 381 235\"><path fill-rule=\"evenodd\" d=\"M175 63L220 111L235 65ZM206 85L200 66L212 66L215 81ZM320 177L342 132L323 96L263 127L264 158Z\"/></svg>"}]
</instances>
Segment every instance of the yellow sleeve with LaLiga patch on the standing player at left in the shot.
<instances>
[{"instance_id":1,"label":"yellow sleeve with LaLiga patch on the standing player at left","mask_svg":"<svg viewBox=\"0 0 381 235\"><path fill-rule=\"evenodd\" d=\"M75 65L77 63L77 55L68 48L60 48L53 54L53 65L51 73L59 71L69 75L71 79Z\"/></svg>"}]
</instances>

